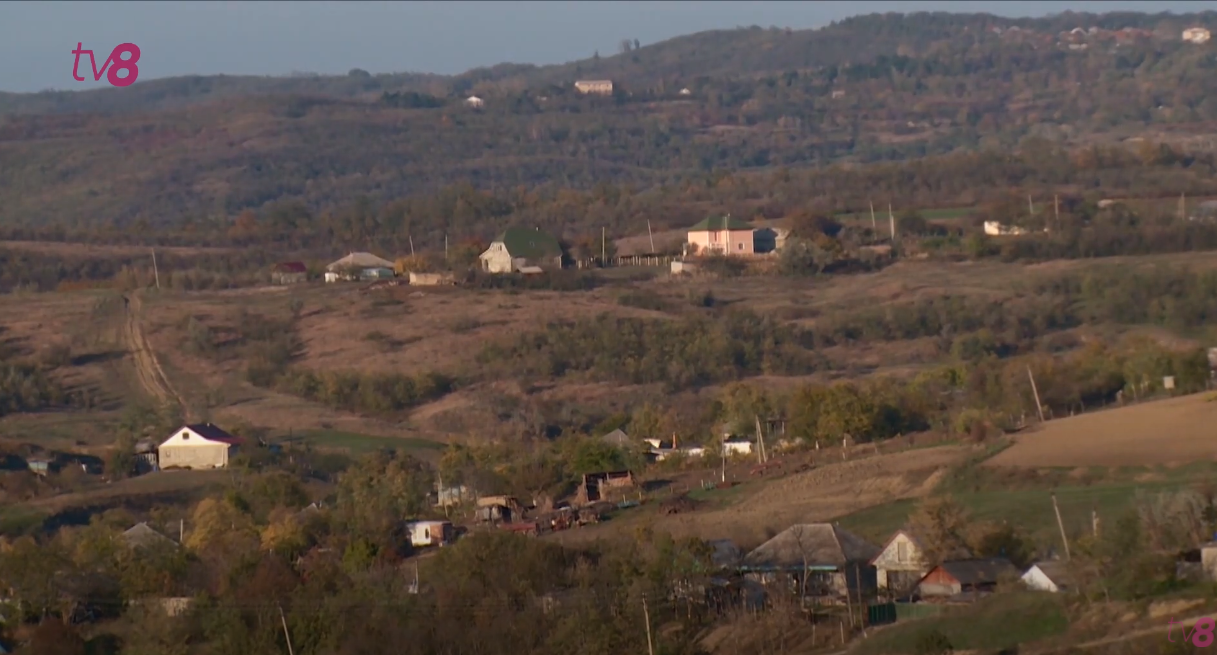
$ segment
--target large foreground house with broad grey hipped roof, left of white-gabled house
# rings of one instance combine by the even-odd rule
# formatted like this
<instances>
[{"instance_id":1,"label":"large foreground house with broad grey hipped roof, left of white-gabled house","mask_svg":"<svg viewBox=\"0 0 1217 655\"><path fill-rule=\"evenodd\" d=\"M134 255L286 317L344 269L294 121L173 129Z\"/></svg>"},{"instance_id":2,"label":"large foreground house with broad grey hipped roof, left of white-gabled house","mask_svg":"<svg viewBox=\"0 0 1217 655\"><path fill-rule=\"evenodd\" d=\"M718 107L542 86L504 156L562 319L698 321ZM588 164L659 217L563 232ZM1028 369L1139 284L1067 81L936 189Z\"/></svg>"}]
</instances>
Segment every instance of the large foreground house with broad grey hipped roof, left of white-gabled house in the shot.
<instances>
[{"instance_id":1,"label":"large foreground house with broad grey hipped roof, left of white-gabled house","mask_svg":"<svg viewBox=\"0 0 1217 655\"><path fill-rule=\"evenodd\" d=\"M790 583L803 595L846 598L875 589L870 561L879 547L835 524L801 524L744 558L740 570L765 584Z\"/></svg>"}]
</instances>

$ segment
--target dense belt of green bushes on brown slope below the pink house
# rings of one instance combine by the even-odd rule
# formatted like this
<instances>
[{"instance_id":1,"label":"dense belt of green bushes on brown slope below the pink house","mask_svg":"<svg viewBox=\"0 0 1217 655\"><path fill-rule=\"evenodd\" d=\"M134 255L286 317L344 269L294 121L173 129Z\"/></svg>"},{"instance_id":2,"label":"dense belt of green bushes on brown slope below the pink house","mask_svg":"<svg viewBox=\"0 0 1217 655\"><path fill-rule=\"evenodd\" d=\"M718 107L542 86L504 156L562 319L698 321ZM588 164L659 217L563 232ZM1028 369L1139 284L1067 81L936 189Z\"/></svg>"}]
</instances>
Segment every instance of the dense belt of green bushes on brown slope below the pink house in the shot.
<instances>
[{"instance_id":1,"label":"dense belt of green bushes on brown slope below the pink house","mask_svg":"<svg viewBox=\"0 0 1217 655\"><path fill-rule=\"evenodd\" d=\"M587 373L624 384L672 388L752 375L802 375L820 365L796 330L750 312L713 319L616 318L551 323L509 343L490 343L478 363L511 375Z\"/></svg>"}]
</instances>

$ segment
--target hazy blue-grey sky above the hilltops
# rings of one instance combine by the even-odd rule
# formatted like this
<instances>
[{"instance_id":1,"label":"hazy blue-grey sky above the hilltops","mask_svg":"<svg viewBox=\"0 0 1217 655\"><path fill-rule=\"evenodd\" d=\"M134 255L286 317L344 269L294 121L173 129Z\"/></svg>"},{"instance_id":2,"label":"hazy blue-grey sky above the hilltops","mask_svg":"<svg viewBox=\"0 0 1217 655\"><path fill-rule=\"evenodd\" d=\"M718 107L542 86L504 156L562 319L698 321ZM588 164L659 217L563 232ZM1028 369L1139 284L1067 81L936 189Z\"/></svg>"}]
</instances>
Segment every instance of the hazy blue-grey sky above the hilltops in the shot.
<instances>
[{"instance_id":1,"label":"hazy blue-grey sky above the hilltops","mask_svg":"<svg viewBox=\"0 0 1217 655\"><path fill-rule=\"evenodd\" d=\"M510 61L562 63L608 55L622 39L651 44L706 29L813 28L859 13L1217 9L1217 1L498 1L498 2L16 2L0 1L0 90L86 89L72 79L77 43L100 67L120 43L141 50L140 80L181 74L292 71L459 73Z\"/></svg>"}]
</instances>

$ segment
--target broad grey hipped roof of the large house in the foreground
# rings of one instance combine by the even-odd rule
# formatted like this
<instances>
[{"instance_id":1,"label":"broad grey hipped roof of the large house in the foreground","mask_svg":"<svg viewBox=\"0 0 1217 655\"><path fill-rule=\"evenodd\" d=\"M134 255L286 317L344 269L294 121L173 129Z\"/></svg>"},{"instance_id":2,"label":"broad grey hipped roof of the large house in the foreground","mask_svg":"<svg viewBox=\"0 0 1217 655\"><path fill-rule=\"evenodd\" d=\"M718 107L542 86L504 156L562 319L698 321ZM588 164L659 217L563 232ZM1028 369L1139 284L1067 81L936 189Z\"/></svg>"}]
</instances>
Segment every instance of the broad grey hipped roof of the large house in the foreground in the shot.
<instances>
[{"instance_id":1,"label":"broad grey hipped roof of the large house in the foreground","mask_svg":"<svg viewBox=\"0 0 1217 655\"><path fill-rule=\"evenodd\" d=\"M784 530L744 558L752 570L839 569L869 562L879 547L832 524L802 524Z\"/></svg>"}]
</instances>

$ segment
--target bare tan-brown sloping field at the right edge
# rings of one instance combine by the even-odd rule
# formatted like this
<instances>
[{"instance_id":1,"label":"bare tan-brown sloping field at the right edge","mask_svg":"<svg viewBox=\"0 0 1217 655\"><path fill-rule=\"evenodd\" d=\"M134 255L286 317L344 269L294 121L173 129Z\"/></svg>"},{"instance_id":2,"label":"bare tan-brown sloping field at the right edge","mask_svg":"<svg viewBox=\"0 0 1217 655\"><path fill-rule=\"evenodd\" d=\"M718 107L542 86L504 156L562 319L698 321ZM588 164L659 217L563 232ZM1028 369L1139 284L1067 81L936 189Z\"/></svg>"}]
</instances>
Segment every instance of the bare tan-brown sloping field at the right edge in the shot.
<instances>
[{"instance_id":1,"label":"bare tan-brown sloping field at the right edge","mask_svg":"<svg viewBox=\"0 0 1217 655\"><path fill-rule=\"evenodd\" d=\"M1217 402L1194 394L1047 422L993 466L1150 466L1217 461Z\"/></svg>"}]
</instances>

